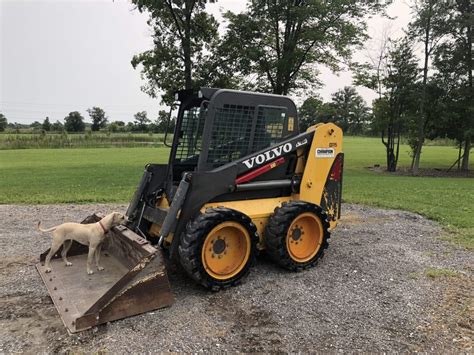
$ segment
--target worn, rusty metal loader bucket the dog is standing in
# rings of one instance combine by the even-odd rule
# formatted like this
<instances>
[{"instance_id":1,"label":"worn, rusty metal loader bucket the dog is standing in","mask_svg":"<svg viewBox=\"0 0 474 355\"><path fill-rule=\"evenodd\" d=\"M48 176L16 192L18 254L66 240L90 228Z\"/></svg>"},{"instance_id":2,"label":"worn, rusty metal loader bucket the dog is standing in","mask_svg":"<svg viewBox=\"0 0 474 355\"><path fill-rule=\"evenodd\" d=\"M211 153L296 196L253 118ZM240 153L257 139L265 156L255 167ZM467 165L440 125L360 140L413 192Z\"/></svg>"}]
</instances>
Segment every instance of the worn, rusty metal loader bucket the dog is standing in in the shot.
<instances>
[{"instance_id":1,"label":"worn, rusty metal loader bucket the dog is standing in","mask_svg":"<svg viewBox=\"0 0 474 355\"><path fill-rule=\"evenodd\" d=\"M95 223L97 215L82 223ZM88 247L73 242L68 252L72 266L66 267L61 249L51 259L50 273L41 254L36 268L49 295L71 333L98 324L168 307L174 301L161 251L125 226L112 228L102 247L103 271L88 275Z\"/></svg>"}]
</instances>

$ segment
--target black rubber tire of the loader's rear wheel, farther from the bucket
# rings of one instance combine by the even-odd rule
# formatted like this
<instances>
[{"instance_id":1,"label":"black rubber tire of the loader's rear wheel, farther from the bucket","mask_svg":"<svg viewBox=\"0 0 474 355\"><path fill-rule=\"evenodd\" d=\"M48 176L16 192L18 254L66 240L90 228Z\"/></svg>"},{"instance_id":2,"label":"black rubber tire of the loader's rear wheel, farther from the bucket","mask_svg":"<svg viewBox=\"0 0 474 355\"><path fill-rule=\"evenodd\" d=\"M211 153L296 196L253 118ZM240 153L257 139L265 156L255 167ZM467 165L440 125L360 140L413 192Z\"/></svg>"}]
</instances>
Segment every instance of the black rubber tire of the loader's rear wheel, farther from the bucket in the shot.
<instances>
[{"instance_id":1,"label":"black rubber tire of the loader's rear wheel, farther from the bucket","mask_svg":"<svg viewBox=\"0 0 474 355\"><path fill-rule=\"evenodd\" d=\"M309 260L299 262L291 255L287 247L288 230L295 219L303 213L314 214L321 221L322 240L317 253ZM318 260L324 256L328 247L329 222L321 207L303 201L284 202L281 207L275 208L270 216L265 230L265 250L280 266L291 270L301 271L316 266ZM301 237L302 238L302 237ZM316 250L316 249L315 249Z\"/></svg>"}]
</instances>

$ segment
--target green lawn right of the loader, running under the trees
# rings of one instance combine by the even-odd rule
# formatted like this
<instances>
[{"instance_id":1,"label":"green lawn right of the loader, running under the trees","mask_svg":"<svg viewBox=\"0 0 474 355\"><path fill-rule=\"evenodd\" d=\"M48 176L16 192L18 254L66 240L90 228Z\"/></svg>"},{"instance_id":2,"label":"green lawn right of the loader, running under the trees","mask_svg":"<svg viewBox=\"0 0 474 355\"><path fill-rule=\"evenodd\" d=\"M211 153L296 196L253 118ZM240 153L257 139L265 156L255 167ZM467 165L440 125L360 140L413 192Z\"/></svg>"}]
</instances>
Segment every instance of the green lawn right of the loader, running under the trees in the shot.
<instances>
[{"instance_id":1,"label":"green lawn right of the loader, running under the trees","mask_svg":"<svg viewBox=\"0 0 474 355\"><path fill-rule=\"evenodd\" d=\"M366 169L385 165L379 139L347 137L344 141L345 202L403 209L420 213L447 227L446 237L474 249L474 180L462 177L414 177ZM402 146L400 166L409 166L408 146ZM447 169L457 159L454 147L423 149L422 168ZM472 164L470 169L473 169Z\"/></svg>"}]
</instances>

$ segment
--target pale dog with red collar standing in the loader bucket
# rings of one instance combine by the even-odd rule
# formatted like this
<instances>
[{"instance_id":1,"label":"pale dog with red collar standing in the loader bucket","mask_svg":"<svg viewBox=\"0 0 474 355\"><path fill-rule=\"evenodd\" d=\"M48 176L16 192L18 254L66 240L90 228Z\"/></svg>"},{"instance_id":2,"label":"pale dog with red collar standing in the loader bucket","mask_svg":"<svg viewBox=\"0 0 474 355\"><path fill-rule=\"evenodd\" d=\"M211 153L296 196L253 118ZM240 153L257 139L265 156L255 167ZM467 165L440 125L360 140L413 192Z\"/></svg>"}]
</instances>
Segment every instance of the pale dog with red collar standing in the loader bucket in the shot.
<instances>
[{"instance_id":1,"label":"pale dog with red collar standing in the loader bucket","mask_svg":"<svg viewBox=\"0 0 474 355\"><path fill-rule=\"evenodd\" d=\"M41 228L41 221L38 222L38 230L40 232L53 232L53 241L51 249L46 256L44 266L46 272L51 272L50 261L53 255L63 245L61 257L66 263L66 266L71 266L72 263L67 260L67 252L72 245L72 241L75 240L83 245L89 246L89 254L87 255L87 273L93 274L94 271L91 268L92 259L95 255L95 264L97 270L102 271L104 268L99 265L100 251L102 248L102 242L104 241L105 234L112 228L121 224L125 220L125 216L119 212L112 212L102 218L97 223L81 224L81 223L63 223L59 226L52 227L49 229Z\"/></svg>"}]
</instances>

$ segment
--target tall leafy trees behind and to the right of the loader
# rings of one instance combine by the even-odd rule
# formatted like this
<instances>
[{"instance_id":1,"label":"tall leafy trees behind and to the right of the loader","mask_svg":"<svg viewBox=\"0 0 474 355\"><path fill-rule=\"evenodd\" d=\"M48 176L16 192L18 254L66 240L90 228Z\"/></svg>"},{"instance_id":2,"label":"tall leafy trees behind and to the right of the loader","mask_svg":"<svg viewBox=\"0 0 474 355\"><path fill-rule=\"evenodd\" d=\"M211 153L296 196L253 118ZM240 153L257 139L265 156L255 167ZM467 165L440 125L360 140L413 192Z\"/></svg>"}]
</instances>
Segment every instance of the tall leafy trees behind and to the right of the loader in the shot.
<instances>
[{"instance_id":1,"label":"tall leafy trees behind and to the right of the loader","mask_svg":"<svg viewBox=\"0 0 474 355\"><path fill-rule=\"evenodd\" d=\"M367 63L352 54L368 41L366 20L384 13L384 1L248 1L242 13L224 13L225 30L206 0L132 0L149 15L154 48L133 57L143 91L173 101L173 92L200 86L308 96L322 84L318 67L351 69L354 85L376 91L368 108L351 88L330 102L310 97L303 125L333 121L348 133L377 134L387 169L397 168L408 136L413 171L427 138L455 139L460 167L469 167L474 137L471 0L413 0L404 38L385 39ZM382 31L380 31L382 32ZM414 48L422 48L421 61ZM311 95L309 95L311 96Z\"/></svg>"}]
</instances>

